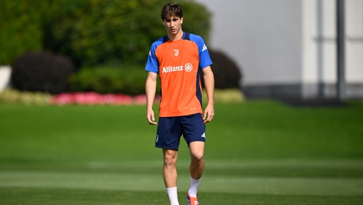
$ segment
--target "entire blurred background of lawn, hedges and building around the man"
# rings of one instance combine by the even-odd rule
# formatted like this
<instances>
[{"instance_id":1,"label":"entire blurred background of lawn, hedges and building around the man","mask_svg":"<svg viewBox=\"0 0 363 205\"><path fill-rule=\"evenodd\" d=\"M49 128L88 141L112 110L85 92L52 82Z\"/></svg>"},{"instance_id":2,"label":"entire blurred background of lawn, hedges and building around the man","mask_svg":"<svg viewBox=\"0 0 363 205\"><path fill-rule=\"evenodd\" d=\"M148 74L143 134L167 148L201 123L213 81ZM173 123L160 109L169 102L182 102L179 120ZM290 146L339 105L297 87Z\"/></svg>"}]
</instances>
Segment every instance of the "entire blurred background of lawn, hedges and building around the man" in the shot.
<instances>
[{"instance_id":1,"label":"entire blurred background of lawn, hedges and building around the man","mask_svg":"<svg viewBox=\"0 0 363 205\"><path fill-rule=\"evenodd\" d=\"M168 203L144 91L166 3L1 1L0 204ZM214 63L203 203L362 204L363 0L177 3Z\"/></svg>"}]
</instances>

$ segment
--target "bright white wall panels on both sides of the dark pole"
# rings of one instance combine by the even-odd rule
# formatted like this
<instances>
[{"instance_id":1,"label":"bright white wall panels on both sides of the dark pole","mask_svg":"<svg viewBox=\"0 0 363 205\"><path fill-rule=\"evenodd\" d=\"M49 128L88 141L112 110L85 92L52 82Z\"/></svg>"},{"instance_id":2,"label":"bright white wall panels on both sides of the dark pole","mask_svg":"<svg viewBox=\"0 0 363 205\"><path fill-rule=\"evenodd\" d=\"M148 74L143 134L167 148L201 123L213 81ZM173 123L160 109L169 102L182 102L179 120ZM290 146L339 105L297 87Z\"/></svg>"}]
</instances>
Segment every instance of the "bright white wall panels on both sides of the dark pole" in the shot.
<instances>
[{"instance_id":1,"label":"bright white wall panels on both sides of the dark pole","mask_svg":"<svg viewBox=\"0 0 363 205\"><path fill-rule=\"evenodd\" d=\"M320 11L318 1L322 3ZM302 94L305 98L318 96L318 83L321 82L324 86L323 96L334 97L337 80L336 1L302 0L301 9ZM318 28L319 12L322 12L321 36ZM345 0L344 12L347 97L363 97L363 0ZM319 45L322 50L319 50Z\"/></svg>"}]
</instances>

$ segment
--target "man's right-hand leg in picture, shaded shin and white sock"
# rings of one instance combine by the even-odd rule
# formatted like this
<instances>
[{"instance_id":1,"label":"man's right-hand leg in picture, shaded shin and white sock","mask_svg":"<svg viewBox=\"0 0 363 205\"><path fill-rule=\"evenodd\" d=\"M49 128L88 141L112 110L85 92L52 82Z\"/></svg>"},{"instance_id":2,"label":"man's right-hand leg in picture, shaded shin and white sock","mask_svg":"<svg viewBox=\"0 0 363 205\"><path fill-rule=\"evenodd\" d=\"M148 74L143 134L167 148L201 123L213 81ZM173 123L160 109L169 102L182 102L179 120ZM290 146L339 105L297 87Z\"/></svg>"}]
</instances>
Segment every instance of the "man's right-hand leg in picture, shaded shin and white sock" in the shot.
<instances>
[{"instance_id":1,"label":"man's right-hand leg in picture, shaded shin and white sock","mask_svg":"<svg viewBox=\"0 0 363 205\"><path fill-rule=\"evenodd\" d=\"M204 170L204 142L190 142L190 188L188 197L197 197L197 188Z\"/></svg>"}]
</instances>

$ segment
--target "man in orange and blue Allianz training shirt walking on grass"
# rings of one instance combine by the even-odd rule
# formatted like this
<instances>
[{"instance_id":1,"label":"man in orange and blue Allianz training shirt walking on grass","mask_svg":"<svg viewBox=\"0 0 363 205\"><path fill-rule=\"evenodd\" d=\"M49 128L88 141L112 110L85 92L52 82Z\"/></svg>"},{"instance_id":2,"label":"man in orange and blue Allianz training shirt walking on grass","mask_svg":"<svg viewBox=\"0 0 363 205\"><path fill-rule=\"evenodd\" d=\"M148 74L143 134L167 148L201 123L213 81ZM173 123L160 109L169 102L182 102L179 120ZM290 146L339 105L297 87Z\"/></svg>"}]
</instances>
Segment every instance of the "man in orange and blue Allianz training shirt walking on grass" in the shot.
<instances>
[{"instance_id":1,"label":"man in orange and blue Allianz training shirt walking on grass","mask_svg":"<svg viewBox=\"0 0 363 205\"><path fill-rule=\"evenodd\" d=\"M197 187L204 169L204 144L206 122L214 116L214 77L212 61L200 36L181 30L183 12L177 3L168 3L162 9L162 23L167 35L155 41L146 63L148 124L156 125L153 101L160 76L162 99L159 105L159 123L155 147L162 148L164 155L164 183L171 205L179 205L177 199L177 151L183 135L190 150L190 188L188 204L197 205ZM201 108L202 74L208 105Z\"/></svg>"}]
</instances>

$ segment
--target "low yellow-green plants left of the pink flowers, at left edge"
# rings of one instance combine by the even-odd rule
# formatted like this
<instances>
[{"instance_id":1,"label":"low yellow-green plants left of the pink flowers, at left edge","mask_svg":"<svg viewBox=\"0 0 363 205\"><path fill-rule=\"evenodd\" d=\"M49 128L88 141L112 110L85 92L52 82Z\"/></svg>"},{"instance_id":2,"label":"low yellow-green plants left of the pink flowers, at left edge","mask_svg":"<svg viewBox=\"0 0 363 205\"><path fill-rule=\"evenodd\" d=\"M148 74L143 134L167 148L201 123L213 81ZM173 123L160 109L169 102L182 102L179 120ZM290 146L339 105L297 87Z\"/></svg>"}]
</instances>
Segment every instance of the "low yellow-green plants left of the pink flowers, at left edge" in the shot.
<instances>
[{"instance_id":1,"label":"low yellow-green plants left of the pink flowers, at left edge","mask_svg":"<svg viewBox=\"0 0 363 205\"><path fill-rule=\"evenodd\" d=\"M19 103L24 105L49 105L52 96L41 92L19 91L5 89L0 92L0 102Z\"/></svg>"}]
</instances>

